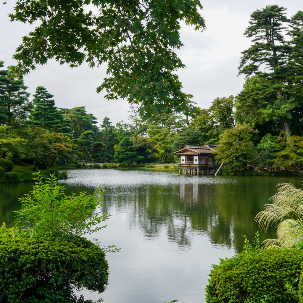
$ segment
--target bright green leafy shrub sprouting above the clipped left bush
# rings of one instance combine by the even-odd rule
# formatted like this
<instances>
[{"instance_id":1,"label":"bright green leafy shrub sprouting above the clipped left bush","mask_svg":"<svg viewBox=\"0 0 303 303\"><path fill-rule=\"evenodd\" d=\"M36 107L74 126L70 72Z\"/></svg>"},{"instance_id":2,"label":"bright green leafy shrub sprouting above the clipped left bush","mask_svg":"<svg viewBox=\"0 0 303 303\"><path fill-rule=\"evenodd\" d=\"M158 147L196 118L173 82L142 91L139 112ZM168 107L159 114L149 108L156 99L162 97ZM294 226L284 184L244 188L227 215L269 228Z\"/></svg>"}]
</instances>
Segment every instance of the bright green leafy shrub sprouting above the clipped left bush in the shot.
<instances>
[{"instance_id":1,"label":"bright green leafy shrub sprouting above the clipped left bush","mask_svg":"<svg viewBox=\"0 0 303 303\"><path fill-rule=\"evenodd\" d=\"M52 237L82 236L105 228L98 226L110 216L97 211L102 206L102 188L96 188L94 195L65 196L65 188L54 175L45 184L39 172L36 175L33 191L19 199L22 208L15 211L15 226L29 230L32 236Z\"/></svg>"}]
</instances>

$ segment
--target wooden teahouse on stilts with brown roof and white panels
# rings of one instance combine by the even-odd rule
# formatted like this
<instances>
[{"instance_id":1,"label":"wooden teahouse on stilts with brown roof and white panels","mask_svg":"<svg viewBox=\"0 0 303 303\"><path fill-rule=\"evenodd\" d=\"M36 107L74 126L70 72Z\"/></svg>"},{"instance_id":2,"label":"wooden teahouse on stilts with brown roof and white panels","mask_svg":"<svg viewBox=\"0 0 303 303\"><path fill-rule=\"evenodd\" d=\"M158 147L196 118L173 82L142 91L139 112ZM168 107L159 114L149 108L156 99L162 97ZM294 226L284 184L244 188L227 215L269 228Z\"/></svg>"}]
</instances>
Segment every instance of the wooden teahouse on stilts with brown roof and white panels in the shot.
<instances>
[{"instance_id":1,"label":"wooden teahouse on stilts with brown roof and white panels","mask_svg":"<svg viewBox=\"0 0 303 303\"><path fill-rule=\"evenodd\" d=\"M205 144L205 146L186 145L183 149L175 151L175 155L180 155L179 174L183 169L184 174L212 173L217 165L215 164L215 147L216 144ZM211 172L210 172L211 171Z\"/></svg>"}]
</instances>

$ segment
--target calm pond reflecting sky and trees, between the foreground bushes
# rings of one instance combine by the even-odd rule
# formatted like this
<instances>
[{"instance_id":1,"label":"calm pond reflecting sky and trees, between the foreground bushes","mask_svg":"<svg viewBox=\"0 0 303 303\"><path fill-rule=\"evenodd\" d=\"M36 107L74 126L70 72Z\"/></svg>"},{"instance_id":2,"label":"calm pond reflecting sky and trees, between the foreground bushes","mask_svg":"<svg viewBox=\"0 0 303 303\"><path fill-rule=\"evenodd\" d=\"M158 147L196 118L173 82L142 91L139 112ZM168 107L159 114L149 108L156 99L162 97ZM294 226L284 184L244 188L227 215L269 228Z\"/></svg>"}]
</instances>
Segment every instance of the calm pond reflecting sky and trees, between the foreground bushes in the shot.
<instances>
[{"instance_id":1,"label":"calm pond reflecting sky and trees, between the foreground bushes","mask_svg":"<svg viewBox=\"0 0 303 303\"><path fill-rule=\"evenodd\" d=\"M102 245L115 244L108 253L109 285L101 295L85 298L105 303L204 302L211 264L241 251L243 235L251 240L275 237L254 221L280 182L302 187L303 178L178 175L168 171L75 169L60 183L66 193L102 185L107 193L103 212L107 227L90 236ZM33 183L0 184L0 220L13 225L18 198Z\"/></svg>"}]
</instances>

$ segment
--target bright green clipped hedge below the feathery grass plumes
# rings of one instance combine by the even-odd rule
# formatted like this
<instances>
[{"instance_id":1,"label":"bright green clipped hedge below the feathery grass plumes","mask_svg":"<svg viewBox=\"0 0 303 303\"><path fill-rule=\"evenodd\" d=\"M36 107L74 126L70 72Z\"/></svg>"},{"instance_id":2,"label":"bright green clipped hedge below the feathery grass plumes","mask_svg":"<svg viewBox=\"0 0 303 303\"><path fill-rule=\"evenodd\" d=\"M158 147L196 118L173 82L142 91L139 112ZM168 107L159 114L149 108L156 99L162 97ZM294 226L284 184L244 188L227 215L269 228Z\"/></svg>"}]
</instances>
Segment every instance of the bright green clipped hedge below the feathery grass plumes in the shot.
<instances>
[{"instance_id":1,"label":"bright green clipped hedge below the feathery grass plumes","mask_svg":"<svg viewBox=\"0 0 303 303\"><path fill-rule=\"evenodd\" d=\"M299 278L303 252L296 249L265 249L242 252L233 258L221 259L214 265L206 288L206 302L294 303L298 299L286 291L284 283Z\"/></svg>"}]
</instances>

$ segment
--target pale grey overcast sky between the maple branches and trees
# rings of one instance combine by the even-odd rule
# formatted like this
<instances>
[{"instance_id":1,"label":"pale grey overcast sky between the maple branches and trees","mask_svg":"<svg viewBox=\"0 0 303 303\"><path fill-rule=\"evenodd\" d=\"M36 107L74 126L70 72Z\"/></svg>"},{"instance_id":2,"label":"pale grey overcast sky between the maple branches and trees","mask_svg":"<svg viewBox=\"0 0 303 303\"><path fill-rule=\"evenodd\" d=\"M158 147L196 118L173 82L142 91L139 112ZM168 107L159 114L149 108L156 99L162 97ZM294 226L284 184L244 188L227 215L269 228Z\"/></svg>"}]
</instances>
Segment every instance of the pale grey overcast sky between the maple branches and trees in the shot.
<instances>
[{"instance_id":1,"label":"pale grey overcast sky between the maple branches and trees","mask_svg":"<svg viewBox=\"0 0 303 303\"><path fill-rule=\"evenodd\" d=\"M290 17L303 10L303 1L201 0L201 3L201 15L207 29L201 33L190 26L182 27L184 46L178 55L186 68L179 70L178 75L183 92L194 95L194 101L201 108L208 108L213 99L237 95L241 91L244 77L237 77L238 65L241 52L251 45L250 39L243 36L250 14L266 5L277 4L287 8ZM16 64L12 55L22 36L31 30L29 25L9 21L8 14L13 12L14 4L12 0L0 4L0 60L5 62L5 67ZM105 70L104 66L90 69L87 65L71 69L52 60L26 75L24 82L31 95L37 86L44 86L54 95L56 106L86 106L87 112L93 113L99 123L107 116L115 125L120 120L127 120L129 105L126 100L107 101L103 98L105 93L96 93L97 86L106 76Z\"/></svg>"}]
</instances>

